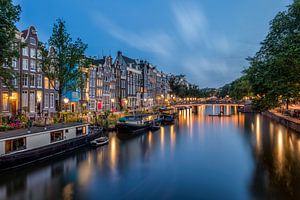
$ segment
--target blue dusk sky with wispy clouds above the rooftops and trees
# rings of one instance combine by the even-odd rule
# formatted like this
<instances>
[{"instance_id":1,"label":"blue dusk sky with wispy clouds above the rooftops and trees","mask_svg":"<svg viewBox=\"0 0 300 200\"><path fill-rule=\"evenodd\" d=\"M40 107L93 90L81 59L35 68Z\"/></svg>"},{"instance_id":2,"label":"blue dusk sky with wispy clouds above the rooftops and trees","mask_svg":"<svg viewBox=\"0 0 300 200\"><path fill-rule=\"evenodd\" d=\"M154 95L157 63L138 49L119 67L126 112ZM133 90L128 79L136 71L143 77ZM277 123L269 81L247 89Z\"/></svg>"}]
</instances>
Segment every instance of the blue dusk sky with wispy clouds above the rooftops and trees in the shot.
<instances>
[{"instance_id":1,"label":"blue dusk sky with wispy clouds above the rooftops and trees","mask_svg":"<svg viewBox=\"0 0 300 200\"><path fill-rule=\"evenodd\" d=\"M18 28L34 25L46 42L63 18L87 55L121 50L168 73L183 73L200 87L219 87L247 67L269 21L292 0L15 0Z\"/></svg>"}]
</instances>

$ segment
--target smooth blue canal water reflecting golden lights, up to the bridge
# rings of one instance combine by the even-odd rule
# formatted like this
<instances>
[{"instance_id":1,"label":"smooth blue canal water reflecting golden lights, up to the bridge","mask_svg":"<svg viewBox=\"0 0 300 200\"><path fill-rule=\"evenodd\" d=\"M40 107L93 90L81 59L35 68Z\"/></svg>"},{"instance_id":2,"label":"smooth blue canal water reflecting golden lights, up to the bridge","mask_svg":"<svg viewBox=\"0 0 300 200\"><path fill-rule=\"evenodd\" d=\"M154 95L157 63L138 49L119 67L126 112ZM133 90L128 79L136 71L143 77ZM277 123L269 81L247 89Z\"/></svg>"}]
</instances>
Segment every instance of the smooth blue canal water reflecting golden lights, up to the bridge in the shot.
<instances>
[{"instance_id":1,"label":"smooth blue canal water reflecting golden lights, up to the bridge","mask_svg":"<svg viewBox=\"0 0 300 200\"><path fill-rule=\"evenodd\" d=\"M180 111L159 131L0 176L0 199L300 199L300 137L259 114Z\"/></svg>"}]
</instances>

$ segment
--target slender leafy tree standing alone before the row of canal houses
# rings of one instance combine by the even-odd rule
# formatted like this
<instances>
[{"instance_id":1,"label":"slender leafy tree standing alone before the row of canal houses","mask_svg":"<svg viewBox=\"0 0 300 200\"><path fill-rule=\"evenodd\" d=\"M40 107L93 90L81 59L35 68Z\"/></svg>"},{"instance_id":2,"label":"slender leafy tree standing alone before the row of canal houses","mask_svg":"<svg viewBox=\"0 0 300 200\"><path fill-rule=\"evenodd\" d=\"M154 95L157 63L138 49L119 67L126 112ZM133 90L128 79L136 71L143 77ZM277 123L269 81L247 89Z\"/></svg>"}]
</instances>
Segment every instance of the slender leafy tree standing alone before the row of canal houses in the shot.
<instances>
[{"instance_id":1,"label":"slender leafy tree standing alone before the row of canal houses","mask_svg":"<svg viewBox=\"0 0 300 200\"><path fill-rule=\"evenodd\" d=\"M41 66L50 84L58 92L58 111L61 111L63 95L82 86L82 67L86 63L84 53L87 44L79 38L73 41L61 19L54 24L48 44L48 48L46 44L40 44Z\"/></svg>"}]
</instances>

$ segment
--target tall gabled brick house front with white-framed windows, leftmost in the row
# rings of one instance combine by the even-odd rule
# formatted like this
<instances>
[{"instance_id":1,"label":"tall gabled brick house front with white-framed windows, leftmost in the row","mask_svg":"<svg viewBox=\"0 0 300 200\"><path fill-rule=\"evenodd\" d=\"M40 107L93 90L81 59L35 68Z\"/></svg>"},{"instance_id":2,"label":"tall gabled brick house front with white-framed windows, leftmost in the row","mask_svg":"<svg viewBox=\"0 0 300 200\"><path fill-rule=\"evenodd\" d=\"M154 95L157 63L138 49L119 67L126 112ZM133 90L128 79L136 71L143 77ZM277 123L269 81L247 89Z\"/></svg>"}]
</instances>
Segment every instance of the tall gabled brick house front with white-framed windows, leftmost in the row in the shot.
<instances>
[{"instance_id":1,"label":"tall gabled brick house front with white-framed windows, leftmost in the row","mask_svg":"<svg viewBox=\"0 0 300 200\"><path fill-rule=\"evenodd\" d=\"M1 115L13 117L22 113L30 118L53 115L56 112L56 83L50 82L41 70L37 30L30 26L17 33L16 39L22 43L22 48L20 45L19 58L12 61L16 74L12 80L14 91L0 83Z\"/></svg>"}]
</instances>

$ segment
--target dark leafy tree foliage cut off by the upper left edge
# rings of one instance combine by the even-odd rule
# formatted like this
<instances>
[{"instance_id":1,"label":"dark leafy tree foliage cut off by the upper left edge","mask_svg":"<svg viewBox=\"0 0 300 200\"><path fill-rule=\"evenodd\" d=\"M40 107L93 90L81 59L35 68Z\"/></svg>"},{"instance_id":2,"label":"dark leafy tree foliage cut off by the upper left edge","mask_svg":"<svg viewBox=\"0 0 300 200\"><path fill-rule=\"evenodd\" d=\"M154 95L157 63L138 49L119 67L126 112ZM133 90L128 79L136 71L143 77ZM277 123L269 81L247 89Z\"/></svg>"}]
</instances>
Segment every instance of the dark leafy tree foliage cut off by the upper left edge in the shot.
<instances>
[{"instance_id":1,"label":"dark leafy tree foliage cut off by the upper left edge","mask_svg":"<svg viewBox=\"0 0 300 200\"><path fill-rule=\"evenodd\" d=\"M0 80L10 89L10 80L14 78L12 59L19 55L15 23L20 19L20 12L21 7L13 5L11 0L0 0Z\"/></svg>"}]
</instances>

